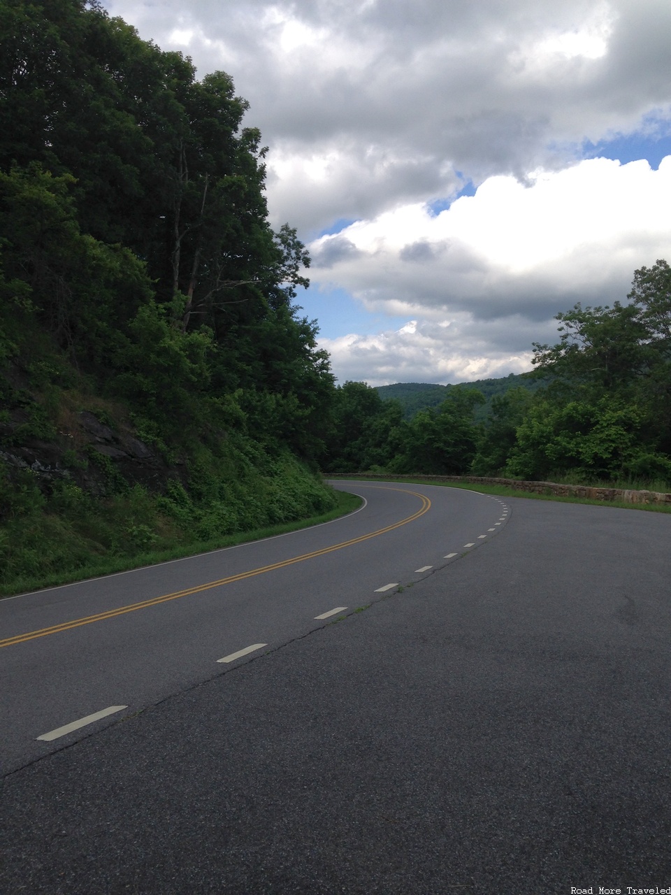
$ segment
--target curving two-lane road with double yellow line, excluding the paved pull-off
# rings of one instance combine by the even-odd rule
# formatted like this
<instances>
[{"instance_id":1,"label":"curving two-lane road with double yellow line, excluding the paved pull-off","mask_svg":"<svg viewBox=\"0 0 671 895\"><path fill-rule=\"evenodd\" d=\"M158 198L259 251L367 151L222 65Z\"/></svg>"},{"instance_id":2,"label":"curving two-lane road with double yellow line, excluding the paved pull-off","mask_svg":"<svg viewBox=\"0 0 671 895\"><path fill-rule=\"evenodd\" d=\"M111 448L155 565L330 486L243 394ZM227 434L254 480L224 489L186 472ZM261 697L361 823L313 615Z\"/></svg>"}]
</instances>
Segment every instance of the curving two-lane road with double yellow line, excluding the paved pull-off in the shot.
<instances>
[{"instance_id":1,"label":"curving two-lane road with double yellow line, excluding the paved pull-off","mask_svg":"<svg viewBox=\"0 0 671 895\"><path fill-rule=\"evenodd\" d=\"M113 706L138 712L217 677L221 658L254 644L272 651L325 626L315 617L445 566L447 553L505 524L503 504L473 492L350 490L366 506L333 523L0 601L0 768L87 736L88 726L38 739L74 720Z\"/></svg>"}]
</instances>

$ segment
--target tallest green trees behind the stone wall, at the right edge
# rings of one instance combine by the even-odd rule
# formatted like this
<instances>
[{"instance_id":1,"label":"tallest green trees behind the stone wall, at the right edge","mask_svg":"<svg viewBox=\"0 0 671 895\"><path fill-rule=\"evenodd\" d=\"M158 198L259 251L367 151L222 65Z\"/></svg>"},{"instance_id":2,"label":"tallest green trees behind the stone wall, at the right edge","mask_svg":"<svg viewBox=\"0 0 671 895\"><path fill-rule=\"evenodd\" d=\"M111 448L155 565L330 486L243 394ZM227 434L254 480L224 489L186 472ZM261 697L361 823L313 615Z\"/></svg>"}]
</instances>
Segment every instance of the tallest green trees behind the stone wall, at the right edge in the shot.
<instances>
[{"instance_id":1,"label":"tallest green trees behind the stone wall, at the right edge","mask_svg":"<svg viewBox=\"0 0 671 895\"><path fill-rule=\"evenodd\" d=\"M515 475L671 479L671 269L634 273L630 303L576 304L557 345L534 345L554 381L516 429Z\"/></svg>"}]
</instances>

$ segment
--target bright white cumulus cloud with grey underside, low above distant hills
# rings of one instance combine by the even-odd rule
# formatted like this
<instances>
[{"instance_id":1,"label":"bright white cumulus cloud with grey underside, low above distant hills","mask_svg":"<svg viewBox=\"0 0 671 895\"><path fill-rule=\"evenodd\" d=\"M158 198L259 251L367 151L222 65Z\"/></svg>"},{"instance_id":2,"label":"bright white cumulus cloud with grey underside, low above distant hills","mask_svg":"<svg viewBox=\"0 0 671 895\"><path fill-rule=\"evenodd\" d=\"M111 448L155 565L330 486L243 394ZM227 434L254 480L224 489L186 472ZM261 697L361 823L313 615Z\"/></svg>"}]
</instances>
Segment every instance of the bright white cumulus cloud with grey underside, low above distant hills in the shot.
<instances>
[{"instance_id":1,"label":"bright white cumulus cloud with grey underside, low above distant hills","mask_svg":"<svg viewBox=\"0 0 671 895\"><path fill-rule=\"evenodd\" d=\"M624 300L633 270L668 253L671 157L658 170L594 158L528 183L491 177L436 216L414 203L311 244L313 282L412 319L379 336L323 340L341 378L529 369L531 342L556 337L558 311Z\"/></svg>"}]
</instances>

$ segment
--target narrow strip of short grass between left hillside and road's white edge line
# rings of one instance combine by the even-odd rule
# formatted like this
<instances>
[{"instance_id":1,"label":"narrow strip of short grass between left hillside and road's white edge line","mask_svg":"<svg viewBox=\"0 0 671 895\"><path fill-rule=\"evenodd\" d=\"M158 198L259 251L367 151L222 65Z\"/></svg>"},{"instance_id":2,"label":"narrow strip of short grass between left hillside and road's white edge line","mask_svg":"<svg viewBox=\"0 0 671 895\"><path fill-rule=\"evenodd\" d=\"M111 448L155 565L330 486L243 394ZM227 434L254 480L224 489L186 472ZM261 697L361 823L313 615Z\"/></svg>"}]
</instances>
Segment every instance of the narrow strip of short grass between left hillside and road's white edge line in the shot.
<instances>
[{"instance_id":1,"label":"narrow strip of short grass between left hillside and road's white edge line","mask_svg":"<svg viewBox=\"0 0 671 895\"><path fill-rule=\"evenodd\" d=\"M76 581L84 581L87 578L98 578L102 575L112 575L115 572L126 572L132 568L155 566L170 559L197 556L200 553L208 553L210 550L235 547L238 544L248 543L249 541L271 538L277 534L298 532L303 528L310 528L311 525L331 522L361 507L361 498L355 494L349 494L346 491L335 491L335 497L337 501L335 507L327 513L322 513L320 516L310 516L307 519L286 522L280 525L269 525L266 528L259 528L250 532L227 534L224 537L210 539L209 541L190 541L188 544L182 544L170 550L149 550L137 553L132 557L110 557L58 574L17 577L13 581L4 584L3 592L0 593L0 600L3 597L10 597L17 593L37 591L45 587L56 587L59 584L72 584Z\"/></svg>"}]
</instances>

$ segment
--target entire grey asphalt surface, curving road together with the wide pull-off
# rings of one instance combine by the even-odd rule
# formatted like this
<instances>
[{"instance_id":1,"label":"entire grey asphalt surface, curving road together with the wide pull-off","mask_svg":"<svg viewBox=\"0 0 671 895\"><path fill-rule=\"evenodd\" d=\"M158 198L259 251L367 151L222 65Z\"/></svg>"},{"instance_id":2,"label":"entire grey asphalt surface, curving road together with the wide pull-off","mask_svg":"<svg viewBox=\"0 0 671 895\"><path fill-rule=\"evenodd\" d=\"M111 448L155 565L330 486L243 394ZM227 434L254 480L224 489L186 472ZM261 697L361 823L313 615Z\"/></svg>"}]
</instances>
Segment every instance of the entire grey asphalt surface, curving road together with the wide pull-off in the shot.
<instances>
[{"instance_id":1,"label":"entire grey asphalt surface, curving road together with the wide pull-off","mask_svg":"<svg viewBox=\"0 0 671 895\"><path fill-rule=\"evenodd\" d=\"M671 887L671 516L342 487L368 507L0 605L0 891Z\"/></svg>"}]
</instances>

